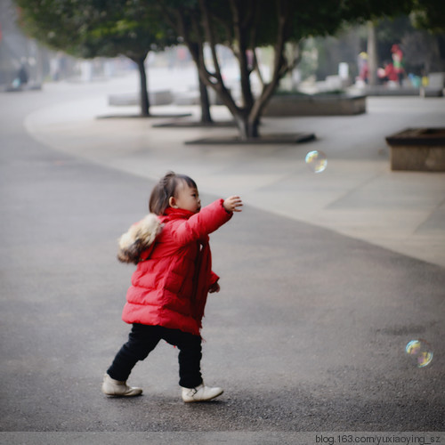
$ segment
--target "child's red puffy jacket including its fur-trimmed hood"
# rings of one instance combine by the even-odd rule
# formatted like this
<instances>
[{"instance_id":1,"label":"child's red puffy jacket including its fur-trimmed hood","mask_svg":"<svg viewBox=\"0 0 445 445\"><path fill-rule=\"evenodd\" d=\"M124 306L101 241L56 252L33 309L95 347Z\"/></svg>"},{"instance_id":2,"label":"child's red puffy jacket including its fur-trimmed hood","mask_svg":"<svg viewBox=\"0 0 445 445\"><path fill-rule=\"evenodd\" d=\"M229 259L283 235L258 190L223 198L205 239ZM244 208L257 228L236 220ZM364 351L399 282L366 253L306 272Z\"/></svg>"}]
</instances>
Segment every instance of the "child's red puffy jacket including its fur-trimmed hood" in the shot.
<instances>
[{"instance_id":1,"label":"child's red puffy jacket including its fur-trimmed hood","mask_svg":"<svg viewBox=\"0 0 445 445\"><path fill-rule=\"evenodd\" d=\"M150 214L125 233L118 257L137 263L137 270L122 319L199 335L208 289L218 280L211 270L208 234L227 223L231 215L223 199L198 214L168 207L166 214ZM125 256L142 244L142 252Z\"/></svg>"}]
</instances>

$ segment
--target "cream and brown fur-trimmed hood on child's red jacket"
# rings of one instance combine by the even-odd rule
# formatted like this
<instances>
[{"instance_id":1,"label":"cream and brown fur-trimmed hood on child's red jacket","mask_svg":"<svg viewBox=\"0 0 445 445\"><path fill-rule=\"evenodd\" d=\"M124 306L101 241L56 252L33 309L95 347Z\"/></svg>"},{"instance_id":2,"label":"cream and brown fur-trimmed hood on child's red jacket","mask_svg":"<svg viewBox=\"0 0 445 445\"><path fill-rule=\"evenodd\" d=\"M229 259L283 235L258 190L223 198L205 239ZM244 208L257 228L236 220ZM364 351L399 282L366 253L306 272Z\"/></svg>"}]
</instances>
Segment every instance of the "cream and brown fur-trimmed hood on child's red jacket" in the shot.
<instances>
[{"instance_id":1,"label":"cream and brown fur-trimmed hood on child's red jacket","mask_svg":"<svg viewBox=\"0 0 445 445\"><path fill-rule=\"evenodd\" d=\"M142 252L153 245L162 227L156 214L147 214L139 223L134 223L119 238L117 259L121 263L139 263Z\"/></svg>"}]
</instances>

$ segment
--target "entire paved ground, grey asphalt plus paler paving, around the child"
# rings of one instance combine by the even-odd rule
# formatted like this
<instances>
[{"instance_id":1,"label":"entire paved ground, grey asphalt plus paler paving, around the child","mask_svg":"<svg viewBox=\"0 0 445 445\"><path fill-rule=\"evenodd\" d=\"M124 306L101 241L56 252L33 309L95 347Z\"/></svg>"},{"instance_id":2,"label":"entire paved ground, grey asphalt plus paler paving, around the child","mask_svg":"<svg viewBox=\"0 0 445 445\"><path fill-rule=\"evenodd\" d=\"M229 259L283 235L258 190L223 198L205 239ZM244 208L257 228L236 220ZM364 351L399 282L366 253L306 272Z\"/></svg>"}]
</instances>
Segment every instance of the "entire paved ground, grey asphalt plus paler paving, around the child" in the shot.
<instances>
[{"instance_id":1,"label":"entire paved ground, grey asphalt plus paler paving, around the child","mask_svg":"<svg viewBox=\"0 0 445 445\"><path fill-rule=\"evenodd\" d=\"M380 98L368 116L264 121L265 132L315 130L304 146L194 147L182 142L223 130L96 119L109 85L0 94L0 441L445 441L444 174L393 173L376 142L410 119L440 125L444 102L400 98L397 111ZM310 149L327 152L323 174L304 165ZM133 268L117 263L116 240L169 168L194 177L204 203L246 202L211 237L222 291L207 303L202 366L225 392L206 404L182 403L167 344L134 369L142 397L100 391L129 330ZM425 368L405 353L420 337Z\"/></svg>"}]
</instances>

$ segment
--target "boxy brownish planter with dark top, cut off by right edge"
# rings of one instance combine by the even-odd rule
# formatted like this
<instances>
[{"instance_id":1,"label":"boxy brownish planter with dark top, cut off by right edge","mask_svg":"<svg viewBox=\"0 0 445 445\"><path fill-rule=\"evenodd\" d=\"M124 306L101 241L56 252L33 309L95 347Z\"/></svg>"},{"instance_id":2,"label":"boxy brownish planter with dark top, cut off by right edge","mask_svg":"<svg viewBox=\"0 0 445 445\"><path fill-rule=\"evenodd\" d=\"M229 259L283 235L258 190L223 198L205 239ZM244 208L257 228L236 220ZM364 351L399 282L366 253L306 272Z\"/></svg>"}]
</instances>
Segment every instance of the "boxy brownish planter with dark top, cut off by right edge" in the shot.
<instances>
[{"instance_id":1,"label":"boxy brownish planter with dark top, cut off by right edge","mask_svg":"<svg viewBox=\"0 0 445 445\"><path fill-rule=\"evenodd\" d=\"M445 128L409 128L386 142L392 170L445 172Z\"/></svg>"}]
</instances>

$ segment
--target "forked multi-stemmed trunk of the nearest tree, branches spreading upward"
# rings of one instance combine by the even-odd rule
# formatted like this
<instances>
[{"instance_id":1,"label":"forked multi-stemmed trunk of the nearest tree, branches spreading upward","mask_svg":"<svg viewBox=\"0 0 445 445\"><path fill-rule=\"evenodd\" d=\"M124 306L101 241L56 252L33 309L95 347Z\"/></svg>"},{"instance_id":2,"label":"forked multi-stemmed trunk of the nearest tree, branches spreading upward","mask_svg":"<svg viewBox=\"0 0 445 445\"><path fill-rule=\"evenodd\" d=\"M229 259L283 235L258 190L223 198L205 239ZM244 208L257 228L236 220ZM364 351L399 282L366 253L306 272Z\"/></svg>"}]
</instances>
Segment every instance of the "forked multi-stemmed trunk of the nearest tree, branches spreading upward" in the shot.
<instances>
[{"instance_id":1,"label":"forked multi-stemmed trunk of the nearest tree, branches spreading upward","mask_svg":"<svg viewBox=\"0 0 445 445\"><path fill-rule=\"evenodd\" d=\"M160 2L161 4L163 2ZM250 138L259 138L258 127L263 109L271 99L271 94L275 91L279 79L283 77L289 66L284 58L284 48L286 43L287 31L290 26L290 14L288 7L290 2L279 1L278 21L277 21L277 39L274 47L275 61L271 81L263 85L263 93L260 97L255 97L250 84L251 70L255 68L255 57L253 63L249 63L247 50L257 46L255 42L255 32L250 32L255 14L249 12L245 14L245 5L238 0L226 2L227 7L231 8L233 23L228 25L229 34L236 44L232 47L239 64L239 81L241 86L242 105L239 106L235 97L226 85L224 85L220 62L216 52L218 39L215 38L212 20L211 2L199 0L196 7L199 14L191 14L187 17L181 12L175 12L172 15L173 27L177 28L178 35L182 36L184 43L187 44L190 54L195 61L199 76L207 87L214 88L219 94L223 104L229 109L231 115L236 121L239 129L239 138L246 141ZM251 6L255 2L248 2ZM255 10L255 8L254 8ZM168 8L166 8L168 12ZM244 14L244 15L243 15ZM217 21L217 20L216 20ZM204 28L204 35L200 32ZM212 67L206 67L206 58L204 56L205 44L208 44L212 54ZM254 54L255 56L255 54Z\"/></svg>"}]
</instances>

